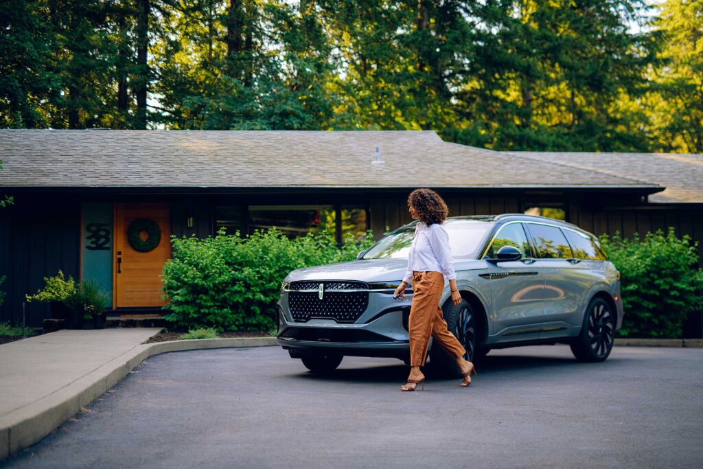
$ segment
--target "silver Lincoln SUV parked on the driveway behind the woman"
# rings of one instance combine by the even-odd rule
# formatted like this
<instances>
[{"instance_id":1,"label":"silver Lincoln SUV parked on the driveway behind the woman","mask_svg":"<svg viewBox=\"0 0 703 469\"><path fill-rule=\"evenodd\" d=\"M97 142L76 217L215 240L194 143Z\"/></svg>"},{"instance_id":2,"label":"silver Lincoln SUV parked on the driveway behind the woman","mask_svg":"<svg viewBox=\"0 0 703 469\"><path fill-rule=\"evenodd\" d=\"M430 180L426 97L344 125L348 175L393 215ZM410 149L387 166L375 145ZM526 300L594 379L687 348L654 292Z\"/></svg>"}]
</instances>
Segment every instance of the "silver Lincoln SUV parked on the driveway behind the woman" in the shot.
<instances>
[{"instance_id":1,"label":"silver Lincoln SUV parked on the driveway behind the woman","mask_svg":"<svg viewBox=\"0 0 703 469\"><path fill-rule=\"evenodd\" d=\"M415 224L381 238L356 260L290 272L281 288L278 344L311 371L345 355L390 356L408 363L412 290L395 300L406 273ZM480 361L490 349L571 345L580 361L603 361L622 322L620 274L598 240L578 226L524 214L451 217L444 226L463 301L440 304L449 330ZM430 365L456 373L430 343Z\"/></svg>"}]
</instances>

